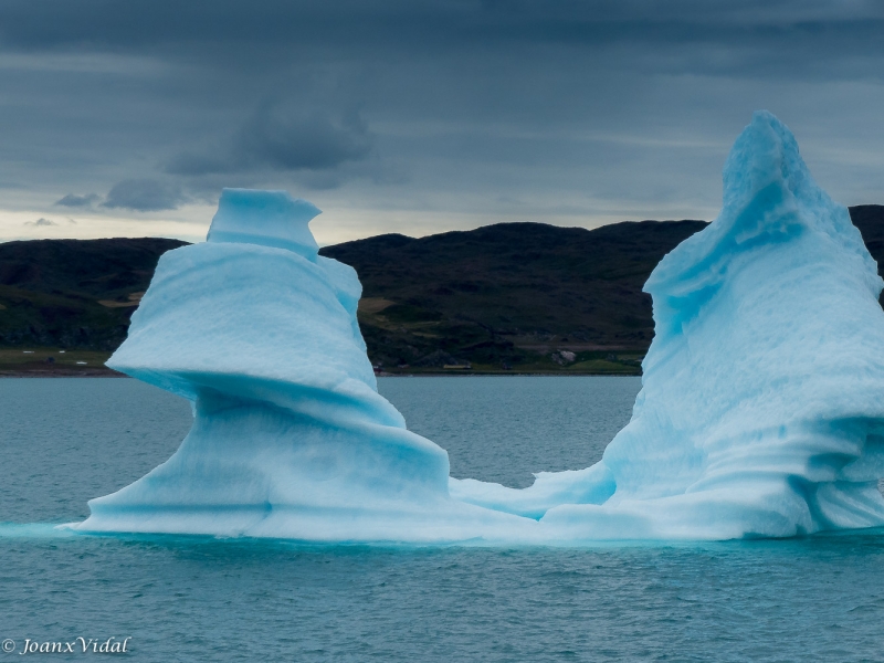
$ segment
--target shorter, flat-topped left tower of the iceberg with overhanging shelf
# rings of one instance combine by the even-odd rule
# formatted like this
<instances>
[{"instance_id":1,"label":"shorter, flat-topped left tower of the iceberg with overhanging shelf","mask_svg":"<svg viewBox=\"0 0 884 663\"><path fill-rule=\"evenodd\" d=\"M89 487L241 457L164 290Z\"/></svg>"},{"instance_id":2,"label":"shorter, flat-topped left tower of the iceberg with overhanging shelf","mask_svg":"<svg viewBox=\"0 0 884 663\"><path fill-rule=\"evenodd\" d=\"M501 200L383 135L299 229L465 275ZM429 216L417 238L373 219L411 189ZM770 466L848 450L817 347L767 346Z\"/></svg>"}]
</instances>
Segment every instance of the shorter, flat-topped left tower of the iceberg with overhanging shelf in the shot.
<instances>
[{"instance_id":1,"label":"shorter, flat-topped left tower of the iceberg with overhanging shelf","mask_svg":"<svg viewBox=\"0 0 884 663\"><path fill-rule=\"evenodd\" d=\"M76 529L422 541L517 519L454 502L445 451L378 394L361 285L318 255L318 213L285 191L225 189L207 242L160 259L107 365L189 399L193 425Z\"/></svg>"}]
</instances>

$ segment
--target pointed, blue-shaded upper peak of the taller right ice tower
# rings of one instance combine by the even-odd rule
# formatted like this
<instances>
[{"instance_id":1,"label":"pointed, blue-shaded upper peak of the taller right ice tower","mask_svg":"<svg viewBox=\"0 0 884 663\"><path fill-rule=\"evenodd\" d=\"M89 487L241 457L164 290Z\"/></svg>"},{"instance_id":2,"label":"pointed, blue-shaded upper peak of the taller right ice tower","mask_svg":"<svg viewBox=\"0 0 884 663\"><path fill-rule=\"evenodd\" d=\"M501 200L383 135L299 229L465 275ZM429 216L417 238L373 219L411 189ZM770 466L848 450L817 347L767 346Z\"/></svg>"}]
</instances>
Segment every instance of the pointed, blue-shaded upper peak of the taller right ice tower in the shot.
<instances>
[{"instance_id":1,"label":"pointed, blue-shaded upper peak of the taller right ice tower","mask_svg":"<svg viewBox=\"0 0 884 663\"><path fill-rule=\"evenodd\" d=\"M828 238L832 251L860 263L865 286L877 298L877 265L848 209L810 175L789 128L768 110L756 110L725 162L722 212L709 227L663 257L644 284L654 299L655 336L682 335L722 285L756 257L808 235Z\"/></svg>"}]
</instances>

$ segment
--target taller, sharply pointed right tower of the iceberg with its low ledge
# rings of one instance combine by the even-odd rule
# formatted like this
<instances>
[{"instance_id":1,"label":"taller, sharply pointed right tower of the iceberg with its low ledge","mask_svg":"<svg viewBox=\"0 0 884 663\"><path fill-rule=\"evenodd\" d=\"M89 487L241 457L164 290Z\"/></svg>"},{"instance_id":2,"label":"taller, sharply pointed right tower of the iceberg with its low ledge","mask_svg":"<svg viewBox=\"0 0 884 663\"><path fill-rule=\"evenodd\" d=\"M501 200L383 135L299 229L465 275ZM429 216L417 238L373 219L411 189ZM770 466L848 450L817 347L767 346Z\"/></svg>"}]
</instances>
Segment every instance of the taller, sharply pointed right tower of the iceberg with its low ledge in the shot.
<instances>
[{"instance_id":1,"label":"taller, sharply pointed right tower of the iceberg with its low ledge","mask_svg":"<svg viewBox=\"0 0 884 663\"><path fill-rule=\"evenodd\" d=\"M630 423L582 472L459 499L564 538L785 537L884 525L884 312L877 265L758 112L724 169L718 218L645 292L654 340Z\"/></svg>"}]
</instances>

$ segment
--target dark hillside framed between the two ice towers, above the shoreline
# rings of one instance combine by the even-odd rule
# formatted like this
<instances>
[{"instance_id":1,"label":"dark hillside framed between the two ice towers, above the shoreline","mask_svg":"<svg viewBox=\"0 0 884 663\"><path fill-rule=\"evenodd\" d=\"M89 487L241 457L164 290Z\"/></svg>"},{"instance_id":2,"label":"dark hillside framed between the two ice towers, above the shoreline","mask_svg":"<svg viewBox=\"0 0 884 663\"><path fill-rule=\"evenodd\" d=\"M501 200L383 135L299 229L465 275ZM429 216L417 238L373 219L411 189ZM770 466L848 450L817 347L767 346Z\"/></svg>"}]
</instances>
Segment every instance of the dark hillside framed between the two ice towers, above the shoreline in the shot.
<instances>
[{"instance_id":1,"label":"dark hillside framed between the two ice towers, above the shoreline","mask_svg":"<svg viewBox=\"0 0 884 663\"><path fill-rule=\"evenodd\" d=\"M643 354L653 324L641 286L665 253L705 225L501 223L421 239L380 235L322 253L359 273L372 359L515 365L552 349Z\"/></svg>"}]
</instances>

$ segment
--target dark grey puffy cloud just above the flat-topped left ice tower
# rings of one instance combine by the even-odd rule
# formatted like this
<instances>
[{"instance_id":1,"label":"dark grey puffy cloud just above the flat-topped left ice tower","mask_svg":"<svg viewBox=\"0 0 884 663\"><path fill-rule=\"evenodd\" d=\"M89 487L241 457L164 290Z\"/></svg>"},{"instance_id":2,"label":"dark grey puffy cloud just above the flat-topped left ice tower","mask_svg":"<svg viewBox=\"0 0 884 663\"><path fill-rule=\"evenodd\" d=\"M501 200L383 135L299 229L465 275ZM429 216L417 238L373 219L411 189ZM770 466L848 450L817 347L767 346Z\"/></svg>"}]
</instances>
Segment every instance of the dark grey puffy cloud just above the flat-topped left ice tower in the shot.
<instances>
[{"instance_id":1,"label":"dark grey puffy cloud just above the flat-topped left ice tower","mask_svg":"<svg viewBox=\"0 0 884 663\"><path fill-rule=\"evenodd\" d=\"M182 152L166 170L200 176L249 170L328 170L360 160L373 136L358 113L333 120L328 114L286 113L265 105L228 145L203 152Z\"/></svg>"}]
</instances>

